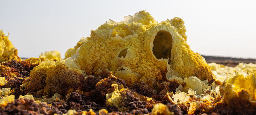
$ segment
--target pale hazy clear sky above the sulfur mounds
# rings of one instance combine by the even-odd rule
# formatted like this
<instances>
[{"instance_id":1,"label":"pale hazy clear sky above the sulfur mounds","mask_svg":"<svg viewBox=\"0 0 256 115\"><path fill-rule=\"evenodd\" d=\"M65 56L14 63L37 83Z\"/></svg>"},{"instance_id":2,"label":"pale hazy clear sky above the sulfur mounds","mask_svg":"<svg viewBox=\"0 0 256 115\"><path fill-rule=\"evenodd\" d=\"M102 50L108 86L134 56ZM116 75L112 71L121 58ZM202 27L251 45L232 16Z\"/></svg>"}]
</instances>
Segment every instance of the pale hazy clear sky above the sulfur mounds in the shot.
<instances>
[{"instance_id":1,"label":"pale hazy clear sky above the sulfur mounds","mask_svg":"<svg viewBox=\"0 0 256 115\"><path fill-rule=\"evenodd\" d=\"M253 0L0 0L0 29L10 34L20 57L57 50L64 58L109 19L119 22L145 10L158 22L182 18L195 52L256 58L255 5Z\"/></svg>"}]
</instances>

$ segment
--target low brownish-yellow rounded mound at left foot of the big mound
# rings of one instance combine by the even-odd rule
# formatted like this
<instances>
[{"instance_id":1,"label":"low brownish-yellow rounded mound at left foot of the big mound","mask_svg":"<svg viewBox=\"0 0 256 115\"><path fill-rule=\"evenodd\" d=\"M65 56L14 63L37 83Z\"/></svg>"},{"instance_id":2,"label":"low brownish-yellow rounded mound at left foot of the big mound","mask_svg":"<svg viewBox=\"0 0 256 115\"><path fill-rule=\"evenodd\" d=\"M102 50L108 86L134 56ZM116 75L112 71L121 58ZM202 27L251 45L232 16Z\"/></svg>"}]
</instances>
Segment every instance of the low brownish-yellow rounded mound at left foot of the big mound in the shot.
<instances>
[{"instance_id":1,"label":"low brownish-yellow rounded mound at left foot of the big mound","mask_svg":"<svg viewBox=\"0 0 256 115\"><path fill-rule=\"evenodd\" d=\"M65 95L69 90L81 87L84 80L80 70L72 69L61 61L44 61L30 72L30 81L27 90L37 96Z\"/></svg>"}]
</instances>

